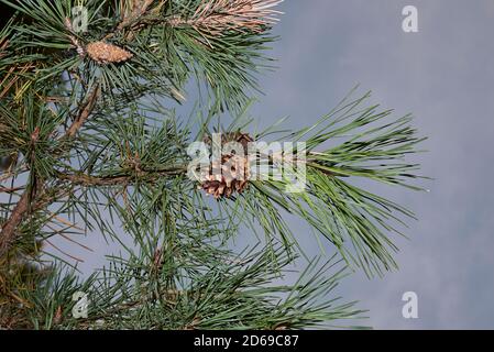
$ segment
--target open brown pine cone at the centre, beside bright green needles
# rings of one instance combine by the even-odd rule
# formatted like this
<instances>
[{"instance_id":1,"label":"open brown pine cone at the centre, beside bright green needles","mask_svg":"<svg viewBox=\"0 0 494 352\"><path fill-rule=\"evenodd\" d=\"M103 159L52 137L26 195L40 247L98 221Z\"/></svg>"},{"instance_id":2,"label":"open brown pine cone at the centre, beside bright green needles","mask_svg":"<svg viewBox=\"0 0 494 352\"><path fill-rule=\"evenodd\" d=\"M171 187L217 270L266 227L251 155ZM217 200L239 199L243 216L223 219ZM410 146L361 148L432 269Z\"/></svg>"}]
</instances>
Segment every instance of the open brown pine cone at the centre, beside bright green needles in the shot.
<instances>
[{"instance_id":1,"label":"open brown pine cone at the centre, beside bright green needles","mask_svg":"<svg viewBox=\"0 0 494 352\"><path fill-rule=\"evenodd\" d=\"M250 163L248 157L248 144L253 140L249 134L240 132L221 135L222 145L232 141L242 144L244 154L221 155L221 161L213 162L209 170L201 174L200 177L202 183L199 188L202 188L216 199L229 198L235 191L241 194L249 186ZM205 139L205 142L211 144L211 139L208 136Z\"/></svg>"}]
</instances>

